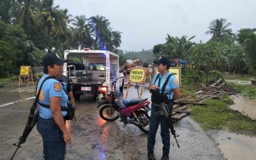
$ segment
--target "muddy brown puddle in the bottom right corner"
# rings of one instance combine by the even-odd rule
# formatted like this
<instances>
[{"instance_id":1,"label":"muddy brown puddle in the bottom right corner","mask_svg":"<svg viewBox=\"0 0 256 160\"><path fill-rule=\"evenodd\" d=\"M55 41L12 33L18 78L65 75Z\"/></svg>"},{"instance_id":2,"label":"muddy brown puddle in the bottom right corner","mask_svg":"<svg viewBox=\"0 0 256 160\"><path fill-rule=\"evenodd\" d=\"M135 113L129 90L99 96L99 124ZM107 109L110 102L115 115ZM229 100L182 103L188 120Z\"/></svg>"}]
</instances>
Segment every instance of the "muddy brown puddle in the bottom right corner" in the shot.
<instances>
[{"instance_id":1,"label":"muddy brown puddle in the bottom right corner","mask_svg":"<svg viewBox=\"0 0 256 160\"><path fill-rule=\"evenodd\" d=\"M213 138L227 159L249 160L256 157L256 137L219 131Z\"/></svg>"}]
</instances>

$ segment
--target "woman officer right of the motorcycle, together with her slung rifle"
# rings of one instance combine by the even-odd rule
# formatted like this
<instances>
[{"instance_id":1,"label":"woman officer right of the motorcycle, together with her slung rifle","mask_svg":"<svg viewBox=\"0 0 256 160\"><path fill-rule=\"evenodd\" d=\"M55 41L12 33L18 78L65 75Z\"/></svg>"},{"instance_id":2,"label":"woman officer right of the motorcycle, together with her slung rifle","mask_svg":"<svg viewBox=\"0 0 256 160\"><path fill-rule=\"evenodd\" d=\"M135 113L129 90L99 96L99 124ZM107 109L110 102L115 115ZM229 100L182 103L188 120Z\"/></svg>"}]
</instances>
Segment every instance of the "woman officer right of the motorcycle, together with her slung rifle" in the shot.
<instances>
[{"instance_id":1,"label":"woman officer right of the motorcycle, together with her slung rifle","mask_svg":"<svg viewBox=\"0 0 256 160\"><path fill-rule=\"evenodd\" d=\"M173 109L173 101L180 97L181 92L179 90L178 80L168 71L170 67L170 60L168 57L162 56L158 60L154 60L154 63L157 64L157 71L159 73L155 74L152 86L149 88L152 93L152 107L149 136L147 140L147 158L155 159L155 135L160 124L163 143L162 160L164 160L169 159L170 130L171 134L173 134L176 139L171 113Z\"/></svg>"}]
</instances>

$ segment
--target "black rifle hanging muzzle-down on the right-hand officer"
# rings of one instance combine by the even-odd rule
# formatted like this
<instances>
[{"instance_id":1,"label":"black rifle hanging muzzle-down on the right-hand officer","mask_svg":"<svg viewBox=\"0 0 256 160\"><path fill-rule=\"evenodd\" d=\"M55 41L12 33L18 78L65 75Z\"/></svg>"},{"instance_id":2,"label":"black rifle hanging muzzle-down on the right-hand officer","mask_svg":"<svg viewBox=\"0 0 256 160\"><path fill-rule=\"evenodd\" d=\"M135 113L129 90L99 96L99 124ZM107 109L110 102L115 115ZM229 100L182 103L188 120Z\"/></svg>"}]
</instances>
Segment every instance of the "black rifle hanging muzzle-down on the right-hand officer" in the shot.
<instances>
[{"instance_id":1,"label":"black rifle hanging muzzle-down on the right-hand officer","mask_svg":"<svg viewBox=\"0 0 256 160\"><path fill-rule=\"evenodd\" d=\"M156 104L154 104L156 105ZM179 137L179 135L176 135L175 134L175 130L173 128L173 119L171 118L171 114L170 114L170 111L168 109L168 106L165 104L165 103L160 103L159 105L157 105L159 107L159 110L158 112L155 113L155 116L158 117L158 116L165 116L165 120L167 121L167 124L171 130L171 134L173 135L173 138L175 138L176 140L176 143L178 145L178 148L180 148L180 145L176 139L176 137Z\"/></svg>"}]
</instances>

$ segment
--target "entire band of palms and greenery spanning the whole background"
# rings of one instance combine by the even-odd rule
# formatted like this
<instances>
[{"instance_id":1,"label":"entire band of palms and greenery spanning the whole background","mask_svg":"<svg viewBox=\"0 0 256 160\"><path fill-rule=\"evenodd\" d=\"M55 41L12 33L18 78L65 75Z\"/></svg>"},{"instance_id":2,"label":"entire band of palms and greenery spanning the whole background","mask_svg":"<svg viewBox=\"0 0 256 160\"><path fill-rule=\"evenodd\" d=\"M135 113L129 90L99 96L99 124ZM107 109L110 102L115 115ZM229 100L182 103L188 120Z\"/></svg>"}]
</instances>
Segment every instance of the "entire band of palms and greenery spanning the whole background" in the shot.
<instances>
[{"instance_id":1,"label":"entire band of palms and greenery spanning the whole background","mask_svg":"<svg viewBox=\"0 0 256 160\"><path fill-rule=\"evenodd\" d=\"M212 20L205 31L212 38L205 43L193 42L195 36L178 38L167 34L164 44L133 52L118 49L122 32L114 30L106 17L69 15L68 9L54 6L54 0L4 0L0 12L0 78L19 74L20 65L39 66L46 52L63 57L66 49L85 47L117 53L120 65L128 58L146 63L162 55L171 60L184 59L189 65L183 68L183 76L204 86L212 81L212 71L256 75L256 29L241 28L233 33L225 18ZM79 61L70 58L70 62Z\"/></svg>"}]
</instances>

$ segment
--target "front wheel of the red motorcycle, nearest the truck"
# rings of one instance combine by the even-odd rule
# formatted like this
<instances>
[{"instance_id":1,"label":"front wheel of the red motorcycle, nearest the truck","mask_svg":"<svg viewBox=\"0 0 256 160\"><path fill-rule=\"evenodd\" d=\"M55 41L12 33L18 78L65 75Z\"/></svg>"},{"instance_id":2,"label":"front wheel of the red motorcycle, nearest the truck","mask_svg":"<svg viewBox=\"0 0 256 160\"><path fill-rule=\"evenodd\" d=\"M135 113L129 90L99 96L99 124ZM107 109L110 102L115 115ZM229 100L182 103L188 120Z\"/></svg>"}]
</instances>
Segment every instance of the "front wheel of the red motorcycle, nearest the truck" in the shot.
<instances>
[{"instance_id":1,"label":"front wheel of the red motorcycle, nearest the truck","mask_svg":"<svg viewBox=\"0 0 256 160\"><path fill-rule=\"evenodd\" d=\"M113 106L110 108L110 104L104 104L101 107L101 110L99 110L99 116L101 116L102 119L105 121L115 121L119 118L117 115L117 111L113 108Z\"/></svg>"}]
</instances>

